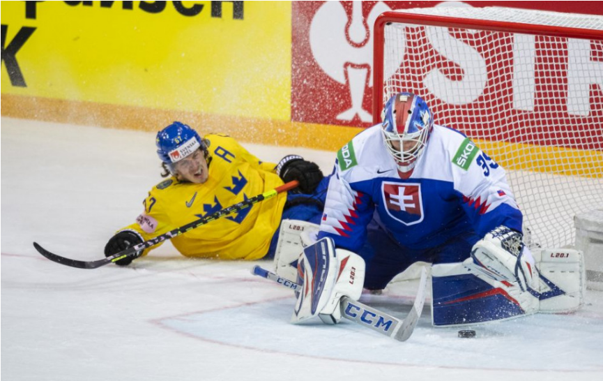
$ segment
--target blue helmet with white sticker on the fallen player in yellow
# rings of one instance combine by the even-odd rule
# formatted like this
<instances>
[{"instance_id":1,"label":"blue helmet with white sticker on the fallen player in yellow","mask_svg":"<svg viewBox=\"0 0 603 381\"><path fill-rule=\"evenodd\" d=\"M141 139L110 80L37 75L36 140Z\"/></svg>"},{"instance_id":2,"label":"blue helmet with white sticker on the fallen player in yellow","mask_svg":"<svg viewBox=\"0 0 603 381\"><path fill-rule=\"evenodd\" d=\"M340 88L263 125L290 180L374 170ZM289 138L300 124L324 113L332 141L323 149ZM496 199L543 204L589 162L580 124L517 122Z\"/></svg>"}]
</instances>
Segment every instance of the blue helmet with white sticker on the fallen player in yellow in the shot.
<instances>
[{"instance_id":1,"label":"blue helmet with white sticker on the fallen player in yellow","mask_svg":"<svg viewBox=\"0 0 603 381\"><path fill-rule=\"evenodd\" d=\"M174 174L174 163L202 149L207 156L207 147L197 131L179 121L174 121L157 133L157 154L167 165L169 172Z\"/></svg>"}]
</instances>

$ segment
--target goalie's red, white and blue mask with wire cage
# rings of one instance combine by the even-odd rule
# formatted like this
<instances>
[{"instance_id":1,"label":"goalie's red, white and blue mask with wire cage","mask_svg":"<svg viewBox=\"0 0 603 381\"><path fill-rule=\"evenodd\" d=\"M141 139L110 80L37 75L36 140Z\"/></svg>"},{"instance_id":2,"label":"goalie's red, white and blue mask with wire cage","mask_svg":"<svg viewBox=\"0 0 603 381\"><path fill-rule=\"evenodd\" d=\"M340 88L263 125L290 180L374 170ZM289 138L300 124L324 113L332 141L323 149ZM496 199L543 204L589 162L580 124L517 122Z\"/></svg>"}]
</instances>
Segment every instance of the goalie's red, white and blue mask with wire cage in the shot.
<instances>
[{"instance_id":1,"label":"goalie's red, white and blue mask with wire cage","mask_svg":"<svg viewBox=\"0 0 603 381\"><path fill-rule=\"evenodd\" d=\"M420 96L399 93L392 96L383 109L381 132L388 152L401 172L409 172L421 156L434 118Z\"/></svg>"}]
</instances>

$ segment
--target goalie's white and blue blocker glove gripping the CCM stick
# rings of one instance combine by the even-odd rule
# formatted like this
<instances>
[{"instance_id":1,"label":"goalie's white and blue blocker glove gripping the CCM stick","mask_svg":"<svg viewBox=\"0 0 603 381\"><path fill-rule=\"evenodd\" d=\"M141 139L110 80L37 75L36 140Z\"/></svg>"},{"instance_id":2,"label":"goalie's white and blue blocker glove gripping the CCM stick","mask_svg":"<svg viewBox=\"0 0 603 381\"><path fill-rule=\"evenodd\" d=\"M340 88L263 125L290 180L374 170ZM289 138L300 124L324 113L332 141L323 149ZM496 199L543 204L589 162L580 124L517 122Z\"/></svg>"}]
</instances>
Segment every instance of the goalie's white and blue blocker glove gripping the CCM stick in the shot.
<instances>
[{"instance_id":1,"label":"goalie's white and blue blocker glove gripping the CCM stick","mask_svg":"<svg viewBox=\"0 0 603 381\"><path fill-rule=\"evenodd\" d=\"M365 278L365 261L360 255L343 249L335 250L333 239L316 241L304 249L298 261L297 301L292 323L319 315L327 324L342 318L341 298L360 299Z\"/></svg>"}]
</instances>

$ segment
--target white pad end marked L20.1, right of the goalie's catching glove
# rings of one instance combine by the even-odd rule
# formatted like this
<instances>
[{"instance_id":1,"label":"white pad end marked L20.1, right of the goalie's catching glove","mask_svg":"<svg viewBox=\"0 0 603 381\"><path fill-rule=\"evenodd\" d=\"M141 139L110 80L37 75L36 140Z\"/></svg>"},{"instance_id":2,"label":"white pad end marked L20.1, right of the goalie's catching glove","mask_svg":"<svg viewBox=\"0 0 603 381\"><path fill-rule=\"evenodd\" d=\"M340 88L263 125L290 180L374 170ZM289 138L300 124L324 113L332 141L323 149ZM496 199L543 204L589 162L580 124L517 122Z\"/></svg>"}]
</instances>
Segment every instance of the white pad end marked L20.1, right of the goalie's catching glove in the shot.
<instances>
[{"instance_id":1,"label":"white pad end marked L20.1, right of the goalie's catching glove","mask_svg":"<svg viewBox=\"0 0 603 381\"><path fill-rule=\"evenodd\" d=\"M540 271L538 297L542 313L569 313L584 304L586 271L581 251L543 249L536 255Z\"/></svg>"}]
</instances>

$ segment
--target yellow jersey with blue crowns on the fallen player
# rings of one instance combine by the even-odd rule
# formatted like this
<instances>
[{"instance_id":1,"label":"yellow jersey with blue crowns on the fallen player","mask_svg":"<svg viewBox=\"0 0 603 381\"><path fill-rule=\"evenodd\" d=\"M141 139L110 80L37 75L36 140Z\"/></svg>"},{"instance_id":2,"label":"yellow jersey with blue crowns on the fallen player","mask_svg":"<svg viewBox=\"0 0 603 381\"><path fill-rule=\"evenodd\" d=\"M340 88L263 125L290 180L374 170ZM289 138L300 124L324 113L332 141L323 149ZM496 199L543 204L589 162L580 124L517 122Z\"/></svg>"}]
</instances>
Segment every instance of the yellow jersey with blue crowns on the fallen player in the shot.
<instances>
[{"instance_id":1,"label":"yellow jersey with blue crowns on the fallen player","mask_svg":"<svg viewBox=\"0 0 603 381\"><path fill-rule=\"evenodd\" d=\"M211 156L205 184L176 177L160 182L148 193L136 223L120 231L135 230L146 241L283 184L274 163L261 163L233 138L215 134L204 138ZM268 252L286 200L287 193L280 193L174 237L171 243L187 257L257 260Z\"/></svg>"}]
</instances>

